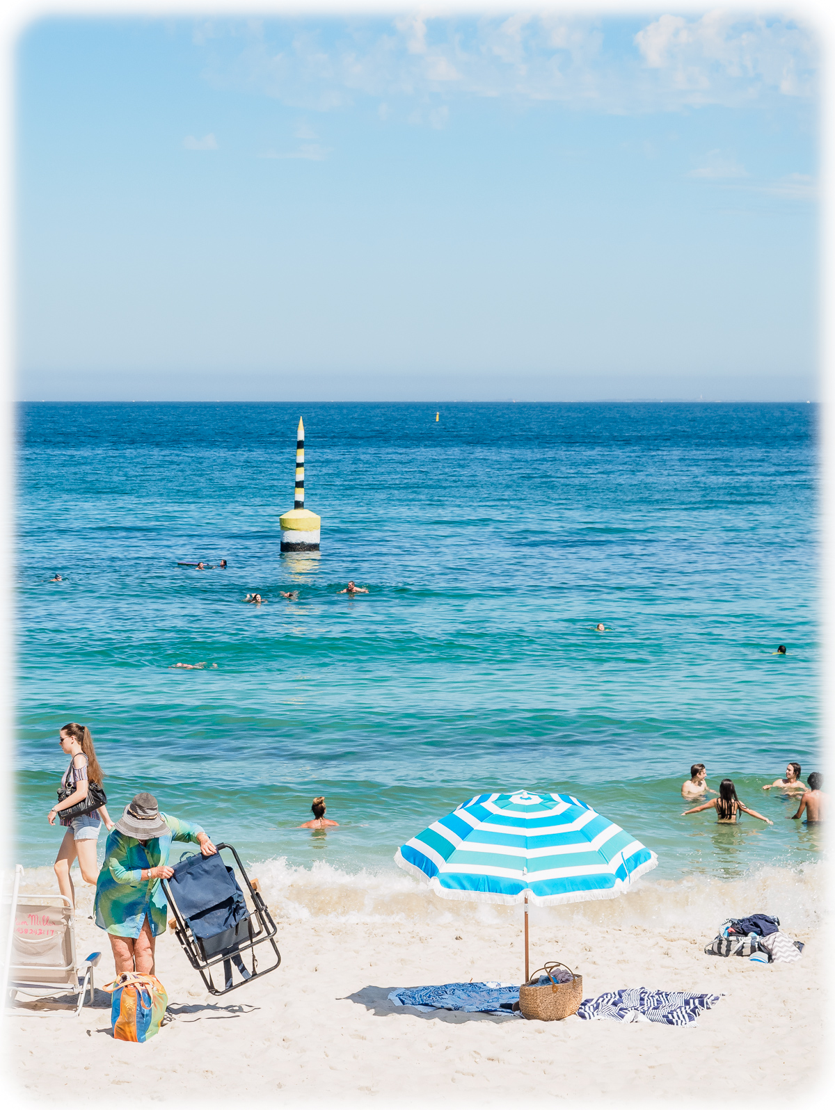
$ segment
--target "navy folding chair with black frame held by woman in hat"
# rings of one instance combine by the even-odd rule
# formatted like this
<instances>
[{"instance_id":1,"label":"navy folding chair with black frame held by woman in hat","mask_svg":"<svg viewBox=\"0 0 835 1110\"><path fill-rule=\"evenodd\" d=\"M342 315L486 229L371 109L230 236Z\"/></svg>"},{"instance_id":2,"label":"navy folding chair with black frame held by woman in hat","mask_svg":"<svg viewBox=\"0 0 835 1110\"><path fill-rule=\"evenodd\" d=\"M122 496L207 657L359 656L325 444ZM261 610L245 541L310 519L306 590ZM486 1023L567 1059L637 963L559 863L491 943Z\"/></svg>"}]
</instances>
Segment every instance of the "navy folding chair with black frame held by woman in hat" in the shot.
<instances>
[{"instance_id":1,"label":"navy folding chair with black frame held by woman in hat","mask_svg":"<svg viewBox=\"0 0 835 1110\"><path fill-rule=\"evenodd\" d=\"M221 858L223 850L234 856L247 895L238 884L235 868ZM162 881L174 915L177 939L210 993L225 995L237 990L244 982L274 971L281 963L281 952L273 939L275 922L231 845L219 844L217 856L184 856L174 864L172 877ZM259 945L269 945L275 955L275 962L260 971L255 957ZM212 968L219 963L223 966L222 989L212 980Z\"/></svg>"}]
</instances>

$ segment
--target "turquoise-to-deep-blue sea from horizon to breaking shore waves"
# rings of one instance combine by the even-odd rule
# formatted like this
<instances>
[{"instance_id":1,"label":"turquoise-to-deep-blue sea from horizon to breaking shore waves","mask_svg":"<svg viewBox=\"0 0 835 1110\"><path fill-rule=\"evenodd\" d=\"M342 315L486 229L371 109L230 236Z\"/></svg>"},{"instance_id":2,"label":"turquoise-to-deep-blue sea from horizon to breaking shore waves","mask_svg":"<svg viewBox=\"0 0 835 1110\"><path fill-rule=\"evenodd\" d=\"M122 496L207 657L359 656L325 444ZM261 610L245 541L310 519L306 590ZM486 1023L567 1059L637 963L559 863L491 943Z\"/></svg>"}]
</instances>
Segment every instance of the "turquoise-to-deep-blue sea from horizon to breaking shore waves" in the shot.
<instances>
[{"instance_id":1,"label":"turquoise-to-deep-blue sea from horizon to breaking shore waves","mask_svg":"<svg viewBox=\"0 0 835 1110\"><path fill-rule=\"evenodd\" d=\"M250 861L393 867L516 787L583 798L658 854L654 877L815 858L759 787L818 766L816 406L436 411L21 406L21 862L58 849L68 720L111 815L149 789ZM319 558L279 552L300 415ZM340 595L349 577L368 596ZM693 761L775 826L682 817ZM326 836L295 828L318 794Z\"/></svg>"}]
</instances>

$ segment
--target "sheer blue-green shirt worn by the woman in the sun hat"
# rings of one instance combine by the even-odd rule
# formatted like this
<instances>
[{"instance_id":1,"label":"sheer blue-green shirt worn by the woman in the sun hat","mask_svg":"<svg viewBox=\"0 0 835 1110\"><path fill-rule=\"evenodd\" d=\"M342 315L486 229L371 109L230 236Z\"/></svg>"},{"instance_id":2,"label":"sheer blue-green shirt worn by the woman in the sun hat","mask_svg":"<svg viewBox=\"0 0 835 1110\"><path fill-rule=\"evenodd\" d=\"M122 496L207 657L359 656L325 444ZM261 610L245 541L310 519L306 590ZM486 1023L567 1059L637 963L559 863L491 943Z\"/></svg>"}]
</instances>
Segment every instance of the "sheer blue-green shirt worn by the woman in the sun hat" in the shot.
<instances>
[{"instance_id":1,"label":"sheer blue-green shirt worn by the woman in the sun hat","mask_svg":"<svg viewBox=\"0 0 835 1110\"><path fill-rule=\"evenodd\" d=\"M179 821L168 814L160 817L171 830L154 837L143 847L132 836L118 829L108 837L104 862L95 884L95 924L113 937L133 937L142 931L145 917L152 936L165 931L168 901L159 879L142 879L142 869L168 864L173 840L199 844L203 829L189 821Z\"/></svg>"}]
</instances>

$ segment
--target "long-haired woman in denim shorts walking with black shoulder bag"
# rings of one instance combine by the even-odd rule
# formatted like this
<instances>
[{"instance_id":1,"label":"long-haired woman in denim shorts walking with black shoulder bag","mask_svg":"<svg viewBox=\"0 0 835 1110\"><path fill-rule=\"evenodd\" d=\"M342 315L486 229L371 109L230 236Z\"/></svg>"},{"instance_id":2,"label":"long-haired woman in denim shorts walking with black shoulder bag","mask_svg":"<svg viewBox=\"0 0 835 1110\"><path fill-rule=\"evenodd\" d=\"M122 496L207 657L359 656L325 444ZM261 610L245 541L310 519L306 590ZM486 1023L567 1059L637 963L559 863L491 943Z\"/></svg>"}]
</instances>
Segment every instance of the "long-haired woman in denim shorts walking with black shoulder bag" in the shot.
<instances>
[{"instance_id":1,"label":"long-haired woman in denim shorts walking with black shoulder bag","mask_svg":"<svg viewBox=\"0 0 835 1110\"><path fill-rule=\"evenodd\" d=\"M70 722L64 725L59 733L61 750L70 757L70 766L61 780L62 787L74 786L72 794L52 806L47 820L54 824L56 817L61 819L61 825L67 829L61 841L61 847L56 857L56 875L58 877L58 889L64 897L76 905L76 888L70 878L70 868L74 859L79 861L81 878L84 882L95 886L99 876L99 868L95 864L95 846L99 839L99 829L102 819L108 829L113 828L113 821L107 806L100 806L81 817L61 817L61 810L69 809L78 805L87 797L90 783L101 786L103 771L95 758L93 738L87 725L77 725Z\"/></svg>"}]
</instances>

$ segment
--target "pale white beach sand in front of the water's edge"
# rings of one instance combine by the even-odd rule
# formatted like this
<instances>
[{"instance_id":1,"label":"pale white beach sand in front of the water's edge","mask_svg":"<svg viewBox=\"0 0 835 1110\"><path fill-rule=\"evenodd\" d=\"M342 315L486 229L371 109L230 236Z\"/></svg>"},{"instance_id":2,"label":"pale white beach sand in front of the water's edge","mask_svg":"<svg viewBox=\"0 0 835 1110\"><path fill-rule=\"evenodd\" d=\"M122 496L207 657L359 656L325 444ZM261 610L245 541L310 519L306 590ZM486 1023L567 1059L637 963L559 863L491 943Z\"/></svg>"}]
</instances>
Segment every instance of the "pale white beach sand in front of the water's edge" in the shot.
<instances>
[{"instance_id":1,"label":"pale white beach sand in front of the water's edge","mask_svg":"<svg viewBox=\"0 0 835 1110\"><path fill-rule=\"evenodd\" d=\"M345 878L324 881L328 876L320 875L316 885L310 872L294 880L285 870L280 888L276 874L264 884L268 904L283 915L276 971L213 998L167 934L158 945L157 973L175 1020L147 1045L114 1041L110 997L101 991L95 1008L78 1020L10 1018L6 1043L20 1100L49 1098L54 1104L58 1097L61 1104L76 1104L107 1096L111 1107L147 1099L212 1106L278 1097L295 1106L381 1096L408 1106L425 1104L427 1097L520 1106L675 1097L733 1106L773 1098L786 1103L805 1091L818 1104L823 930L789 930L782 918L786 931L806 941L798 965L705 956L715 928L706 935L696 921L698 885L690 900L673 885L645 885L642 894L617 901L533 915L532 960L539 960L532 970L545 958L563 960L583 975L586 998L636 986L724 993L694 1028L421 1015L394 1007L386 995L421 983L520 980L519 910L441 904L405 879L389 904L376 890L370 905L373 884L359 894L348 890L346 902ZM808 896L808 884L781 885L796 905ZM746 911L774 912L763 905L764 889L761 881L759 902ZM753 897L754 888L746 895ZM364 904L364 920L352 901ZM82 910L89 912L90 904L85 891ZM379 912L386 905L389 917ZM652 924L664 906L666 920ZM78 928L81 949L104 952L101 987L113 977L108 938L85 917Z\"/></svg>"}]
</instances>

